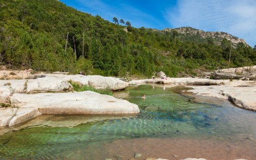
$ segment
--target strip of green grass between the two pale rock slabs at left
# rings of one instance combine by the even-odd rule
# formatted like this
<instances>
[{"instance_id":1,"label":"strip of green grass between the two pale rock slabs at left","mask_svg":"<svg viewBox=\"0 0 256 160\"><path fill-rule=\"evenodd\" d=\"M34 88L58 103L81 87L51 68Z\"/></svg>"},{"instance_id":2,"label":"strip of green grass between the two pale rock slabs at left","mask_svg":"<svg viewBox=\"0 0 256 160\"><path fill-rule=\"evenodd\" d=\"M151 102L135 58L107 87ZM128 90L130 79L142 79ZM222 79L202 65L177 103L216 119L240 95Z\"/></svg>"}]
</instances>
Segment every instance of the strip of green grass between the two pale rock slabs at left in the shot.
<instances>
[{"instance_id":1,"label":"strip of green grass between the two pale rock slabs at left","mask_svg":"<svg viewBox=\"0 0 256 160\"><path fill-rule=\"evenodd\" d=\"M93 92L98 92L99 94L107 94L107 95L113 96L113 92L110 91L109 88L96 89L96 88L93 88L92 86L79 85L79 83L72 82L72 81L69 81L69 83L73 86L74 91L77 91L77 92L93 91Z\"/></svg>"}]
</instances>

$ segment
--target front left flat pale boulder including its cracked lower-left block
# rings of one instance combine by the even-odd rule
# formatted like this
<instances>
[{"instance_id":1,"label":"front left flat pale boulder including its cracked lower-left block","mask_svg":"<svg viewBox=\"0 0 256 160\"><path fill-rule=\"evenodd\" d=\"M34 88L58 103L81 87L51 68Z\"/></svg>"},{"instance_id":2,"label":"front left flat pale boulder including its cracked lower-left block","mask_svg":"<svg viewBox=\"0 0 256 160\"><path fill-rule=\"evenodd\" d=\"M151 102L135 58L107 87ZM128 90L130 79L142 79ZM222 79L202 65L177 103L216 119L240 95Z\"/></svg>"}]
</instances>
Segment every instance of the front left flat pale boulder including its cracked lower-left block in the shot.
<instances>
[{"instance_id":1,"label":"front left flat pale boulder including its cracked lower-left block","mask_svg":"<svg viewBox=\"0 0 256 160\"><path fill-rule=\"evenodd\" d=\"M0 126L13 126L40 114L137 114L138 105L92 91L20 94L13 108L0 108Z\"/></svg>"}]
</instances>

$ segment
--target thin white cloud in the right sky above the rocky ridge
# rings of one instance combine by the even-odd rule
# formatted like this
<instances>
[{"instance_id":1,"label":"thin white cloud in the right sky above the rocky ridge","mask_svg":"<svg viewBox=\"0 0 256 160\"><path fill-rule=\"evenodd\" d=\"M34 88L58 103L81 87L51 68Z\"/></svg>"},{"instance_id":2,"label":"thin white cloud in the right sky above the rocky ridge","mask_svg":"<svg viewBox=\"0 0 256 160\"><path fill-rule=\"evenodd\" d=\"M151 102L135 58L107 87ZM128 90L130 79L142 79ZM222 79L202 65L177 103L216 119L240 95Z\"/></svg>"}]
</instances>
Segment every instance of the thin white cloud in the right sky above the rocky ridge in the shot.
<instances>
[{"instance_id":1,"label":"thin white cloud in the right sky above the rocky ridge","mask_svg":"<svg viewBox=\"0 0 256 160\"><path fill-rule=\"evenodd\" d=\"M205 31L222 31L256 44L255 0L178 0L166 10L166 20L174 27L190 26Z\"/></svg>"}]
</instances>

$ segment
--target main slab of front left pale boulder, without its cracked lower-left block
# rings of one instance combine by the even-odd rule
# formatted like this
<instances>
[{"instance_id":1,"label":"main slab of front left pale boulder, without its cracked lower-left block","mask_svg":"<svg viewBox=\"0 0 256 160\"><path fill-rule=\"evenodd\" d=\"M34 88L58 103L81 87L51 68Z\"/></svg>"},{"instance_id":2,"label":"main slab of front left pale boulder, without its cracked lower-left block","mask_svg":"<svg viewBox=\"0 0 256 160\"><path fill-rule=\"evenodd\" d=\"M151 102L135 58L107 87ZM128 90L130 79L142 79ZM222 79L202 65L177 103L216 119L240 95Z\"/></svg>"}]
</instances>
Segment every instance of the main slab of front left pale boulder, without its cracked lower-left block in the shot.
<instances>
[{"instance_id":1,"label":"main slab of front left pale boulder, without its cracked lower-left block","mask_svg":"<svg viewBox=\"0 0 256 160\"><path fill-rule=\"evenodd\" d=\"M12 105L38 108L42 114L131 114L137 105L127 100L92 91L40 94L13 94Z\"/></svg>"}]
</instances>

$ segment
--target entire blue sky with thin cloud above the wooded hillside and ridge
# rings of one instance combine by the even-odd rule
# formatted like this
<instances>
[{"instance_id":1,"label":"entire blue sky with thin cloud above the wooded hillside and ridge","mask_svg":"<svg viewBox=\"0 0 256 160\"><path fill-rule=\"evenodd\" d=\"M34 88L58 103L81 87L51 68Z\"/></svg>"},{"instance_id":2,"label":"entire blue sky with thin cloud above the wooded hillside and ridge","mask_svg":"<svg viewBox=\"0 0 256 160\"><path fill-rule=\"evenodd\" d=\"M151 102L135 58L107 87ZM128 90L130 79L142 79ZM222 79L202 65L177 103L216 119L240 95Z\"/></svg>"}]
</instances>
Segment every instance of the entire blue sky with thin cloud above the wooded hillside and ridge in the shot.
<instances>
[{"instance_id":1,"label":"entire blue sky with thin cloud above the wooded hillside and ridge","mask_svg":"<svg viewBox=\"0 0 256 160\"><path fill-rule=\"evenodd\" d=\"M221 31L256 45L256 0L60 0L82 12L133 27Z\"/></svg>"}]
</instances>

